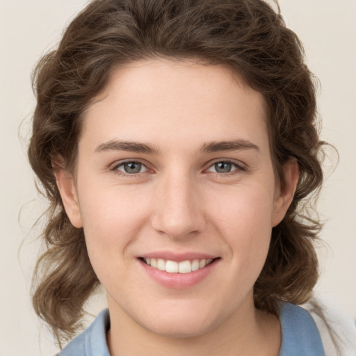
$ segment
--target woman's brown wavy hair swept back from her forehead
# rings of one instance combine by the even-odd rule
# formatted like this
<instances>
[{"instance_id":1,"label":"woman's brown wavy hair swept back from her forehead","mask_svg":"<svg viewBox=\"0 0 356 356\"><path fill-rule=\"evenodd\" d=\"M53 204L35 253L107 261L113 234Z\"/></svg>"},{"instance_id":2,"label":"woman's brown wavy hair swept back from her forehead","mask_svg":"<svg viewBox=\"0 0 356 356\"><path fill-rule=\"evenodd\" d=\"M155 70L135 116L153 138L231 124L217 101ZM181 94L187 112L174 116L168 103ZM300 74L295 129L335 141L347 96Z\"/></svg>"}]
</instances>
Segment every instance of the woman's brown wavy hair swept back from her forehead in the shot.
<instances>
[{"instance_id":1,"label":"woman's brown wavy hair swept back from her forehead","mask_svg":"<svg viewBox=\"0 0 356 356\"><path fill-rule=\"evenodd\" d=\"M96 0L71 22L58 49L45 55L33 73L37 106L29 161L50 203L44 251L33 278L33 306L58 342L70 339L81 325L83 305L99 281L83 229L67 218L54 170L61 164L74 171L83 113L106 88L113 68L162 57L223 65L263 95L276 177L283 186L283 165L295 159L300 178L286 216L273 228L254 303L278 314L281 300L301 304L312 296L318 278L314 244L321 225L307 207L323 180L323 143L314 76L277 3Z\"/></svg>"}]
</instances>

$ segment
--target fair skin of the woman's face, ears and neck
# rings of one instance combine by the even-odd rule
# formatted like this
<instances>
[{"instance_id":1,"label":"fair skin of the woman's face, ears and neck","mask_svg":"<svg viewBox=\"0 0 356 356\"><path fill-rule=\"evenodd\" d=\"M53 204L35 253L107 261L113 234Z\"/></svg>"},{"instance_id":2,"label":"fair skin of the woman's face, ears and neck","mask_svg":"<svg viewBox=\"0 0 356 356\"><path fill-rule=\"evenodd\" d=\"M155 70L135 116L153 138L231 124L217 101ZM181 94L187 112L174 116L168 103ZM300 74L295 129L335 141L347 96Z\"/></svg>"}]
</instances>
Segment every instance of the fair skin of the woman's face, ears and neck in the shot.
<instances>
[{"instance_id":1,"label":"fair skin of the woman's face, ears and neck","mask_svg":"<svg viewBox=\"0 0 356 356\"><path fill-rule=\"evenodd\" d=\"M284 166L281 191L261 95L223 67L156 59L115 69L97 99L84 115L75 179L60 170L57 181L107 292L111 355L277 356L280 323L254 309L253 285L298 165ZM240 146L202 150L220 141ZM123 161L143 165L125 175ZM229 162L226 172L217 162ZM157 251L218 259L203 280L175 289L138 259Z\"/></svg>"}]
</instances>

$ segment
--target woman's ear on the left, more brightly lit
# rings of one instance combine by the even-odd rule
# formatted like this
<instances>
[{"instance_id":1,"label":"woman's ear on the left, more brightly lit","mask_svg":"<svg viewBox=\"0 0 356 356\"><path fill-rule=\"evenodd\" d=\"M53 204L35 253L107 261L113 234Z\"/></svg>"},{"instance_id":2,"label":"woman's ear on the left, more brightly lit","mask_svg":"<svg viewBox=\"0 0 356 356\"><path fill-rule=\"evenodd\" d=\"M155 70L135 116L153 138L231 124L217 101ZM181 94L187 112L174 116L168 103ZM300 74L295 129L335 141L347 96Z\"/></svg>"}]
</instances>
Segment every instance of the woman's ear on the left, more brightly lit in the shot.
<instances>
[{"instance_id":1,"label":"woman's ear on the left, more brightly lit","mask_svg":"<svg viewBox=\"0 0 356 356\"><path fill-rule=\"evenodd\" d=\"M65 212L74 227L83 227L78 195L74 184L74 177L64 168L55 172L60 197L62 197Z\"/></svg>"}]
</instances>

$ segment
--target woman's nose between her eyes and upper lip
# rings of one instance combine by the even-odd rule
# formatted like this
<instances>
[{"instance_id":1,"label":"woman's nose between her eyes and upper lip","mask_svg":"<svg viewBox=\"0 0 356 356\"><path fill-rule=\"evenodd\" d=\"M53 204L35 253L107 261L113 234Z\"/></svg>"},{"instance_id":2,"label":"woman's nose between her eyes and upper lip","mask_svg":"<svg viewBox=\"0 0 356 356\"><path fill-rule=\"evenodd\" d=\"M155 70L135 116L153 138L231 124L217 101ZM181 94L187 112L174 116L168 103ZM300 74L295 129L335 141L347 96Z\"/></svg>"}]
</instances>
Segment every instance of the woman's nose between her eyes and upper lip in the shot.
<instances>
[{"instance_id":1,"label":"woman's nose between her eyes and upper lip","mask_svg":"<svg viewBox=\"0 0 356 356\"><path fill-rule=\"evenodd\" d=\"M177 173L162 179L153 204L153 229L173 239L192 237L206 226L199 189L188 175Z\"/></svg>"}]
</instances>

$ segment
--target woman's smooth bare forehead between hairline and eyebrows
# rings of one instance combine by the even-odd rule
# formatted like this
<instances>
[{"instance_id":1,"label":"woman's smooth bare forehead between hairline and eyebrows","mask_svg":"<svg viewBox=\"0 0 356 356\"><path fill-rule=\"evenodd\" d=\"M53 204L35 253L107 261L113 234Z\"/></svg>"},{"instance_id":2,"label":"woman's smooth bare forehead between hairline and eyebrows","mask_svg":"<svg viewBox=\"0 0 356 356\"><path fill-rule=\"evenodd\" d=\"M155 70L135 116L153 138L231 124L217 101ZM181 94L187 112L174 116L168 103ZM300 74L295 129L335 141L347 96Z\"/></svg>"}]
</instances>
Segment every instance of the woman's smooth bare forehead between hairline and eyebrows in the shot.
<instances>
[{"instance_id":1,"label":"woman's smooth bare forehead between hairline and eyebrows","mask_svg":"<svg viewBox=\"0 0 356 356\"><path fill-rule=\"evenodd\" d=\"M237 74L167 59L115 68L84 115L86 133L93 142L120 136L165 144L197 141L197 135L205 141L268 136L264 99Z\"/></svg>"}]
</instances>

